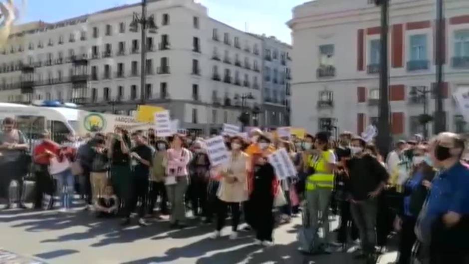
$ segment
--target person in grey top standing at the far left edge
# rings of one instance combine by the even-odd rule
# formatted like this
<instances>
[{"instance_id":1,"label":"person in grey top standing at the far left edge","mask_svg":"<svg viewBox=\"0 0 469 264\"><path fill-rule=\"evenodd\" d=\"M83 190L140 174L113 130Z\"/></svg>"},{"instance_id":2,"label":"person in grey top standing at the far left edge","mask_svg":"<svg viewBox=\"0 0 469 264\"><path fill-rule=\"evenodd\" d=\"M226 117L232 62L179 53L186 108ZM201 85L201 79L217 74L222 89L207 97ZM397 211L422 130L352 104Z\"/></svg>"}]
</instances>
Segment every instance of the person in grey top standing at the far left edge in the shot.
<instances>
[{"instance_id":1,"label":"person in grey top standing at the far left edge","mask_svg":"<svg viewBox=\"0 0 469 264\"><path fill-rule=\"evenodd\" d=\"M16 181L18 186L18 207L25 209L20 197L23 192L23 177L26 175L30 157L27 156L28 145L23 133L15 128L15 120L6 117L2 121L2 132L0 133L0 197L7 199L6 209L11 207L11 197L16 196L9 193L12 181Z\"/></svg>"}]
</instances>

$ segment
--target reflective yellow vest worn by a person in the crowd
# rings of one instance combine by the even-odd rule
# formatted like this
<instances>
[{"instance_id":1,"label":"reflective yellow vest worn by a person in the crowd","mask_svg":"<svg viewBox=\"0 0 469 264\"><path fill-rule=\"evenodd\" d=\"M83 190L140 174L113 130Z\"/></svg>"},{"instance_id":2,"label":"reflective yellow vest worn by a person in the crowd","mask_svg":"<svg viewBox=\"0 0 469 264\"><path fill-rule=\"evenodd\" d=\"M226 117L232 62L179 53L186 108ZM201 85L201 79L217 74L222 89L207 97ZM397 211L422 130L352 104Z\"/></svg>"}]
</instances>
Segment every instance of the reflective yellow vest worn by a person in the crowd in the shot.
<instances>
[{"instance_id":1,"label":"reflective yellow vest worn by a person in the crowd","mask_svg":"<svg viewBox=\"0 0 469 264\"><path fill-rule=\"evenodd\" d=\"M334 155L332 150L326 150L321 153L319 157L309 158L309 167L314 169L314 174L308 176L306 181L306 190L312 191L316 188L334 188L334 174L328 173L327 162L330 160L330 155Z\"/></svg>"}]
</instances>

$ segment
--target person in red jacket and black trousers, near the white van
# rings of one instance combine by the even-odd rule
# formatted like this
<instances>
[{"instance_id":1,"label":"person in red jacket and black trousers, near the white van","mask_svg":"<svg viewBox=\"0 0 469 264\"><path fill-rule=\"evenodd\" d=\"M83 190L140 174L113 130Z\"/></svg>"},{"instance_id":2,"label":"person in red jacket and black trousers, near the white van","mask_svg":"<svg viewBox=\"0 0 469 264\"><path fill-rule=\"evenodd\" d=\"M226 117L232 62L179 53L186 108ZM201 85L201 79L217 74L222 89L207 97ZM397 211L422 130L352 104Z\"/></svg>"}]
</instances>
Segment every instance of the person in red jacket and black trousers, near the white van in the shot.
<instances>
[{"instance_id":1,"label":"person in red jacket and black trousers, near the white van","mask_svg":"<svg viewBox=\"0 0 469 264\"><path fill-rule=\"evenodd\" d=\"M36 180L36 192L34 199L34 209L42 209L42 199L48 197L45 208L51 210L53 206L52 195L54 194L54 182L49 174L50 158L55 157L60 145L50 140L49 131L45 130L39 137L39 144L33 151L34 174Z\"/></svg>"}]
</instances>

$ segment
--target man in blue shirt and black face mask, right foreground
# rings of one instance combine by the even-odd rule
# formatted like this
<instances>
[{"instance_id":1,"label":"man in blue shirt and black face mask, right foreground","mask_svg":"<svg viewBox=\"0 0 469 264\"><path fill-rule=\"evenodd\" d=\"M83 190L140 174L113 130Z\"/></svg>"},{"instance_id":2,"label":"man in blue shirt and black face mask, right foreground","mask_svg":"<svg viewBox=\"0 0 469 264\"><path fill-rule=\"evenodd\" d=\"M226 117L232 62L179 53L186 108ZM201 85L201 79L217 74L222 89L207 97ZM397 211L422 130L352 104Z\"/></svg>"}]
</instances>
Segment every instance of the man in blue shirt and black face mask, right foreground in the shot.
<instances>
[{"instance_id":1,"label":"man in blue shirt and black face mask, right foreground","mask_svg":"<svg viewBox=\"0 0 469 264\"><path fill-rule=\"evenodd\" d=\"M430 155L440 173L430 184L430 194L417 219L415 232L421 243L421 261L431 264L465 263L468 257L469 168L461 163L464 140L440 133Z\"/></svg>"}]
</instances>

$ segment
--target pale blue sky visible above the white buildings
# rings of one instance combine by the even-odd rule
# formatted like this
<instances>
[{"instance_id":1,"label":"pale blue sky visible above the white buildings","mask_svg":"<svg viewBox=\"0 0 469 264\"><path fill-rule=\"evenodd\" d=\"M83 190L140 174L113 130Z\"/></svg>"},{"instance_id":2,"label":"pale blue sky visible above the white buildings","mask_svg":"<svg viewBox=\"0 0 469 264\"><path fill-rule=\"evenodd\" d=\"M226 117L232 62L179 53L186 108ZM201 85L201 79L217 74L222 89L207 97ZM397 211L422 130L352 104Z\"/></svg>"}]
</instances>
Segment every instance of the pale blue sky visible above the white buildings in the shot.
<instances>
[{"instance_id":1,"label":"pale blue sky visible above the white buildings","mask_svg":"<svg viewBox=\"0 0 469 264\"><path fill-rule=\"evenodd\" d=\"M286 21L291 9L307 0L198 0L209 15L240 30L274 35L291 43ZM21 0L15 0L20 5ZM55 22L139 0L27 0L21 22Z\"/></svg>"}]
</instances>

